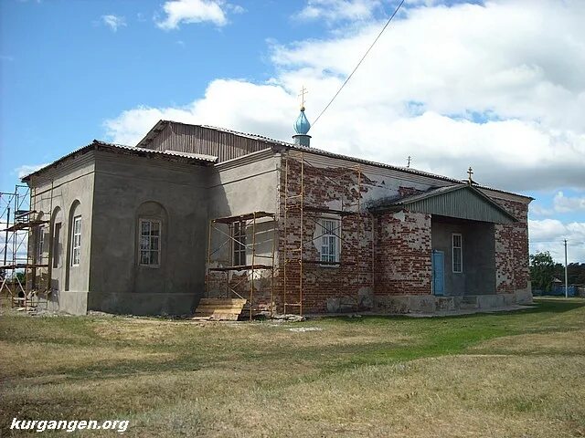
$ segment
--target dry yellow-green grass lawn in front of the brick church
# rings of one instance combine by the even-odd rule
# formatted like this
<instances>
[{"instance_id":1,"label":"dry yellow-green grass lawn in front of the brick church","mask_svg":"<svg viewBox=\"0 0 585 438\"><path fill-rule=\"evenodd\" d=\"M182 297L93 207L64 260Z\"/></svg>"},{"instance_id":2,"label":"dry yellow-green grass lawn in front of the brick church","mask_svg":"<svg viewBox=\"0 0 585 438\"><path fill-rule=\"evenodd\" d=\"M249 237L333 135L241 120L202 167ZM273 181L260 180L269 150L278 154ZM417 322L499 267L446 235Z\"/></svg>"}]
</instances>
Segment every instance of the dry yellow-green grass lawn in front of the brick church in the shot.
<instances>
[{"instance_id":1,"label":"dry yellow-green grass lawn in front of the brick church","mask_svg":"<svg viewBox=\"0 0 585 438\"><path fill-rule=\"evenodd\" d=\"M13 417L140 437L585 436L585 300L282 324L5 313L0 436Z\"/></svg>"}]
</instances>

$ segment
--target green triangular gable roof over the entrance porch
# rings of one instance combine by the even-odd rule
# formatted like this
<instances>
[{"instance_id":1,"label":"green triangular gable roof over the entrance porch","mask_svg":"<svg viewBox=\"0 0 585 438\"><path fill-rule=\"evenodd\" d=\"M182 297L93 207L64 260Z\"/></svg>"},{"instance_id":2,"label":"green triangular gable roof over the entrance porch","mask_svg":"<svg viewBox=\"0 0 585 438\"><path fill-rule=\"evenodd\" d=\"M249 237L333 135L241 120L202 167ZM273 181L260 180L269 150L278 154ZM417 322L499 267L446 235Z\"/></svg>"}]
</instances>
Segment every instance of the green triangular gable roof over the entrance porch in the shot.
<instances>
[{"instance_id":1,"label":"green triangular gable roof over the entrance porch","mask_svg":"<svg viewBox=\"0 0 585 438\"><path fill-rule=\"evenodd\" d=\"M470 184L457 184L424 193L414 194L378 205L373 212L391 212L407 209L414 213L437 214L471 221L511 224L517 222L513 214Z\"/></svg>"}]
</instances>

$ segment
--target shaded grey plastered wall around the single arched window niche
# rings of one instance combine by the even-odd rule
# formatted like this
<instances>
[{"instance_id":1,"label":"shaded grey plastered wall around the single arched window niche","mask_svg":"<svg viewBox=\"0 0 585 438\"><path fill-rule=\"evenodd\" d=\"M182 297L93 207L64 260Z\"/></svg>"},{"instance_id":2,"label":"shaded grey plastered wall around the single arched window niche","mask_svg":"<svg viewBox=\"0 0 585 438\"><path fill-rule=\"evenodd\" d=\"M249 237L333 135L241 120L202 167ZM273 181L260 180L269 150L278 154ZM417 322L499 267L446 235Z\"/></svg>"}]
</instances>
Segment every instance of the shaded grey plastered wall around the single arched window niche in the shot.
<instances>
[{"instance_id":1,"label":"shaded grey plastered wall around the single arched window niche","mask_svg":"<svg viewBox=\"0 0 585 438\"><path fill-rule=\"evenodd\" d=\"M204 289L211 169L96 153L88 308L186 314ZM139 221L160 220L158 266L139 263Z\"/></svg>"}]
</instances>

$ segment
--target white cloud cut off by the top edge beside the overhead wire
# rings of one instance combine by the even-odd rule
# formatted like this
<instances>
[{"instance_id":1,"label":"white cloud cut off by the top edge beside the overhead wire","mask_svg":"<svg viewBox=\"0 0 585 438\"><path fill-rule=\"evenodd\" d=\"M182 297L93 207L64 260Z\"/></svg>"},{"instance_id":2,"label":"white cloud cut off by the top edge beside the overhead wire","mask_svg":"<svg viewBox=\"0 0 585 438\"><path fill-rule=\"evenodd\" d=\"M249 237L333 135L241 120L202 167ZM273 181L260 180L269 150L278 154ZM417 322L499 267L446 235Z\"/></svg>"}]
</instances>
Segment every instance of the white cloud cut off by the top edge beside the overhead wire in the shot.
<instances>
[{"instance_id":1,"label":"white cloud cut off by the top edge beside the overhead wire","mask_svg":"<svg viewBox=\"0 0 585 438\"><path fill-rule=\"evenodd\" d=\"M366 20L373 16L381 4L378 0L309 0L295 17L324 20L329 24L342 20Z\"/></svg>"}]
</instances>

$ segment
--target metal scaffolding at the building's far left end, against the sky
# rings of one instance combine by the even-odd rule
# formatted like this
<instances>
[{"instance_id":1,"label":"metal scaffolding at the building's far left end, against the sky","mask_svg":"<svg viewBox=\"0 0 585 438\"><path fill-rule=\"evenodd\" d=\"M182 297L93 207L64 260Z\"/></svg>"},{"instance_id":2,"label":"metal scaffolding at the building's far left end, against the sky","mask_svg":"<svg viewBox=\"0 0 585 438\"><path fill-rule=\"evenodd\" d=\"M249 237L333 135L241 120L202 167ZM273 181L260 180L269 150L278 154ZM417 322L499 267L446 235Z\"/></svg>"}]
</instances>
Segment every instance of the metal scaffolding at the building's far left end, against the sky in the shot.
<instances>
[{"instance_id":1,"label":"metal scaffolding at the building's far left end, against the sky","mask_svg":"<svg viewBox=\"0 0 585 438\"><path fill-rule=\"evenodd\" d=\"M52 188L50 195L52 206ZM46 304L48 300L50 250L44 251L48 243L44 228L50 221L35 209L35 203L35 193L27 185L16 184L14 192L0 193L0 233L4 240L0 298L8 299L13 308L37 308L42 299ZM50 236L50 225L48 229Z\"/></svg>"}]
</instances>

